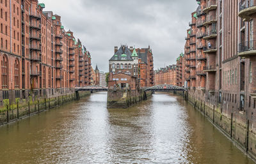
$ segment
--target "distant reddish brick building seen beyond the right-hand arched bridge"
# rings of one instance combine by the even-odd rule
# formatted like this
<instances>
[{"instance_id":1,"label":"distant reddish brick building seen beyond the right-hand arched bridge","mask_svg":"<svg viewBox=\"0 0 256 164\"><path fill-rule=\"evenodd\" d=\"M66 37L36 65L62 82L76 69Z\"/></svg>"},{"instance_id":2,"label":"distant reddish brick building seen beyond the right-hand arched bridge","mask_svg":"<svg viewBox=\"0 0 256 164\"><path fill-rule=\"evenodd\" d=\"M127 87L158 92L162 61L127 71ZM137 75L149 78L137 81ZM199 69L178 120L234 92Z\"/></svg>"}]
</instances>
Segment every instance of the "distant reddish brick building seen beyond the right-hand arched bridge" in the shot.
<instances>
[{"instance_id":1,"label":"distant reddish brick building seen beyond the right-hand arched bridge","mask_svg":"<svg viewBox=\"0 0 256 164\"><path fill-rule=\"evenodd\" d=\"M178 77L177 65L173 64L155 71L155 85L170 84L177 86Z\"/></svg>"}]
</instances>

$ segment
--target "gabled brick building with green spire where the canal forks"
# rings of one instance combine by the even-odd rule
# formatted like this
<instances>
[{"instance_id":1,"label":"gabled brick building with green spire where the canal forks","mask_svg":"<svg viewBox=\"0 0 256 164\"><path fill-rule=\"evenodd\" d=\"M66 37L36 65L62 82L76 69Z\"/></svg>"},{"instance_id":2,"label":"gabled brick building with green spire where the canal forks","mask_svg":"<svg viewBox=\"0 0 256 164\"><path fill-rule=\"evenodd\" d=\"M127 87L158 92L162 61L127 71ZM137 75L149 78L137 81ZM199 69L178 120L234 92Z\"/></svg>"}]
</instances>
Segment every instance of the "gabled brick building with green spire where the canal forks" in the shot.
<instances>
[{"instance_id":1,"label":"gabled brick building with green spire where the canal forks","mask_svg":"<svg viewBox=\"0 0 256 164\"><path fill-rule=\"evenodd\" d=\"M127 45L122 45L119 49L115 47L115 54L109 60L109 86L113 84L111 81L116 74L126 74L136 79L131 80L131 82L136 82L136 84L124 82L122 83L122 87L125 87L125 84L140 87L154 86L153 54L150 47L133 48L127 47ZM114 79L116 80L116 78ZM120 80L119 78L117 79Z\"/></svg>"}]
</instances>

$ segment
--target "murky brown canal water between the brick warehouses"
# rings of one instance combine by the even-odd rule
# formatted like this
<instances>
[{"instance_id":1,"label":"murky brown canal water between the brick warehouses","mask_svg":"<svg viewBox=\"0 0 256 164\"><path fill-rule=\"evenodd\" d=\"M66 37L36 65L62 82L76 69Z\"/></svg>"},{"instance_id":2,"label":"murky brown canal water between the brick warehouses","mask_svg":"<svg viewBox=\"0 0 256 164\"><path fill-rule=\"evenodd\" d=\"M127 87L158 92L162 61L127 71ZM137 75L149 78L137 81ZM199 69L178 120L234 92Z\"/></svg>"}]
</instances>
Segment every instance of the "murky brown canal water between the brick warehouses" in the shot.
<instances>
[{"instance_id":1,"label":"murky brown canal water between the brick warehouses","mask_svg":"<svg viewBox=\"0 0 256 164\"><path fill-rule=\"evenodd\" d=\"M253 163L180 97L107 109L107 93L0 127L0 163Z\"/></svg>"}]
</instances>

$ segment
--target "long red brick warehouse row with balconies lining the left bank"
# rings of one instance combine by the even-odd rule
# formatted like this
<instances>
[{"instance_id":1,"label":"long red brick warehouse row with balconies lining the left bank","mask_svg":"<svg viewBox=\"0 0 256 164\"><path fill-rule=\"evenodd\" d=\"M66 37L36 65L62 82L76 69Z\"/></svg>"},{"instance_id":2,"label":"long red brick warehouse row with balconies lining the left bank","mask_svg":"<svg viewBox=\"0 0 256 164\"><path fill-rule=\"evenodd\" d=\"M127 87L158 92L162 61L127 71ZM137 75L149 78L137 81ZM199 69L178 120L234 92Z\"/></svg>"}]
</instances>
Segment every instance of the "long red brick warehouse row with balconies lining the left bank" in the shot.
<instances>
[{"instance_id":1,"label":"long red brick warehouse row with balconies lining the left bank","mask_svg":"<svg viewBox=\"0 0 256 164\"><path fill-rule=\"evenodd\" d=\"M90 85L91 56L36 0L0 1L0 103Z\"/></svg>"}]
</instances>

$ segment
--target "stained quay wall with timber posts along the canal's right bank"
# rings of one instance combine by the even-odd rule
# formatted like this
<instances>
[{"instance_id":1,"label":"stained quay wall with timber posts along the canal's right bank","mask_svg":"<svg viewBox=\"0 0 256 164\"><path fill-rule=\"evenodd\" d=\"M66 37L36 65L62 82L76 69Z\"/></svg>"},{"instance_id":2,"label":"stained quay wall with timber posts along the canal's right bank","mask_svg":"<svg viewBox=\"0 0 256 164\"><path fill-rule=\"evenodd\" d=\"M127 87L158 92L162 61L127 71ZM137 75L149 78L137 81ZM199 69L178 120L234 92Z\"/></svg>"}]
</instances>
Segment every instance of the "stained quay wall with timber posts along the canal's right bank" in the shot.
<instances>
[{"instance_id":1,"label":"stained quay wall with timber posts along the canal's right bank","mask_svg":"<svg viewBox=\"0 0 256 164\"><path fill-rule=\"evenodd\" d=\"M246 111L228 107L227 102L220 102L218 98L202 98L193 90L182 96L244 153L256 160L256 130L253 127L255 117L246 117Z\"/></svg>"}]
</instances>

